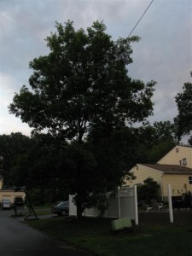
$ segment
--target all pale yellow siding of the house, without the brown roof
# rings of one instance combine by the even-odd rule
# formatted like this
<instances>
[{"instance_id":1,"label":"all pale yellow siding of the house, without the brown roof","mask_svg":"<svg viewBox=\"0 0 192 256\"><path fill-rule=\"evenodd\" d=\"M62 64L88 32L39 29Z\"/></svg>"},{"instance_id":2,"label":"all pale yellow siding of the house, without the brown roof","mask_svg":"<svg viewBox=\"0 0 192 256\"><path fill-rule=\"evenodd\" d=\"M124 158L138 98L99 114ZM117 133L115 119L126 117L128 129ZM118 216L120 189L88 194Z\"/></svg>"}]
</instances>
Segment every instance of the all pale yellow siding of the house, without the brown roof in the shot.
<instances>
[{"instance_id":1,"label":"all pale yellow siding of the house, without the brown roof","mask_svg":"<svg viewBox=\"0 0 192 256\"><path fill-rule=\"evenodd\" d=\"M183 160L186 159L187 165L183 165ZM159 164L161 165L179 165L182 161L182 165L188 168L192 168L192 148L176 146L166 154ZM164 174L163 172L149 168L148 166L137 165L131 169L137 177L135 180L125 181L126 185L133 186L134 184L143 183L148 177L154 178L154 181L160 184L162 199L167 197L168 184L171 184L172 195L182 195L186 191L192 191L192 184L189 184L189 177L187 174Z\"/></svg>"}]
</instances>

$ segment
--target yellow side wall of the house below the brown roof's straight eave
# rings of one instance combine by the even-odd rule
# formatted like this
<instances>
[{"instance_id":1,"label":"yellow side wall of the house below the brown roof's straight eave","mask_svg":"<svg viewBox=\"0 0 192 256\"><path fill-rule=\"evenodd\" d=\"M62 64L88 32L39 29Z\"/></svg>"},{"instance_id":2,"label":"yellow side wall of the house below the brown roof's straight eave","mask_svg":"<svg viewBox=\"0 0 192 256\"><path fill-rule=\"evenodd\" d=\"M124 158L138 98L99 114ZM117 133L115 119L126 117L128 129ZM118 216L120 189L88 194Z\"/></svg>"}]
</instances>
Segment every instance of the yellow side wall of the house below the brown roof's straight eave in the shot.
<instances>
[{"instance_id":1,"label":"yellow side wall of the house below the brown roof's straight eave","mask_svg":"<svg viewBox=\"0 0 192 256\"><path fill-rule=\"evenodd\" d=\"M168 184L171 184L172 195L182 195L188 191L192 191L192 184L189 184L188 174L164 174L162 177L163 182L163 195L167 196Z\"/></svg>"}]
</instances>

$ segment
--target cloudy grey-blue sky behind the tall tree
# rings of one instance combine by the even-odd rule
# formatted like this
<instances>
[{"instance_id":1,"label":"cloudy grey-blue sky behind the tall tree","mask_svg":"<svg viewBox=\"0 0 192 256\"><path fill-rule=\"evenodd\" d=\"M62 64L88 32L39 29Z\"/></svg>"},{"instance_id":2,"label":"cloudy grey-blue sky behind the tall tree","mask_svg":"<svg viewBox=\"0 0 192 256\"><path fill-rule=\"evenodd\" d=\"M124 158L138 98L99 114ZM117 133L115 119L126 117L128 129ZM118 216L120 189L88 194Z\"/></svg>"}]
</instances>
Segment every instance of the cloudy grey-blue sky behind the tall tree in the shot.
<instances>
[{"instance_id":1,"label":"cloudy grey-blue sky behind the tall tree","mask_svg":"<svg viewBox=\"0 0 192 256\"><path fill-rule=\"evenodd\" d=\"M32 74L29 61L47 55L44 38L55 32L55 20L73 20L85 30L103 20L114 40L127 37L151 0L0 0L0 135L20 131L30 135L28 125L9 114L8 106ZM154 0L132 35L132 79L154 80L154 116L170 120L177 115L175 96L190 82L192 70L192 1Z\"/></svg>"}]
</instances>

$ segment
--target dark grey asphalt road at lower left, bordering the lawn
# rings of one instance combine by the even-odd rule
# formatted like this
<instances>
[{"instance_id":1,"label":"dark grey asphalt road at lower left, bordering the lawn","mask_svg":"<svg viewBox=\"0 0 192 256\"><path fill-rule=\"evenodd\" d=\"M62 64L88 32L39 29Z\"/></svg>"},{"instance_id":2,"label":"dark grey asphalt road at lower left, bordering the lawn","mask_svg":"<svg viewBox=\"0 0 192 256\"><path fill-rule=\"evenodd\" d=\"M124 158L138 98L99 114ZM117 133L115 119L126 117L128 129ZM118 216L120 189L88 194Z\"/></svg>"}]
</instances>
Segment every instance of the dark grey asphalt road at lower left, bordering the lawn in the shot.
<instances>
[{"instance_id":1,"label":"dark grey asphalt road at lower left, bordering the lawn","mask_svg":"<svg viewBox=\"0 0 192 256\"><path fill-rule=\"evenodd\" d=\"M90 256L90 253L69 247L62 241L34 230L12 218L13 210L0 210L1 256ZM38 220L37 220L38 221Z\"/></svg>"}]
</instances>

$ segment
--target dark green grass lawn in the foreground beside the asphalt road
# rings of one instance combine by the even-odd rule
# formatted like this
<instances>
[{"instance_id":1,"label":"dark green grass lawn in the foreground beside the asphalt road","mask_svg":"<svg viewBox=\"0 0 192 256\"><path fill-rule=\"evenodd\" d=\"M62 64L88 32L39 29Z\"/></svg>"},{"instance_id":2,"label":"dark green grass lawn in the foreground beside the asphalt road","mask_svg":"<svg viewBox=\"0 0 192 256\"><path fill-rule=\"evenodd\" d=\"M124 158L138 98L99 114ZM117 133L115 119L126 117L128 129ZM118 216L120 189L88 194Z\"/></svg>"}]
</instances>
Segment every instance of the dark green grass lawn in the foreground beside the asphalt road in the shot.
<instances>
[{"instance_id":1,"label":"dark green grass lawn in the foreground beside the asphalt road","mask_svg":"<svg viewBox=\"0 0 192 256\"><path fill-rule=\"evenodd\" d=\"M118 235L113 234L108 218L55 217L26 223L93 255L192 255L192 219L188 224L144 224Z\"/></svg>"}]
</instances>

